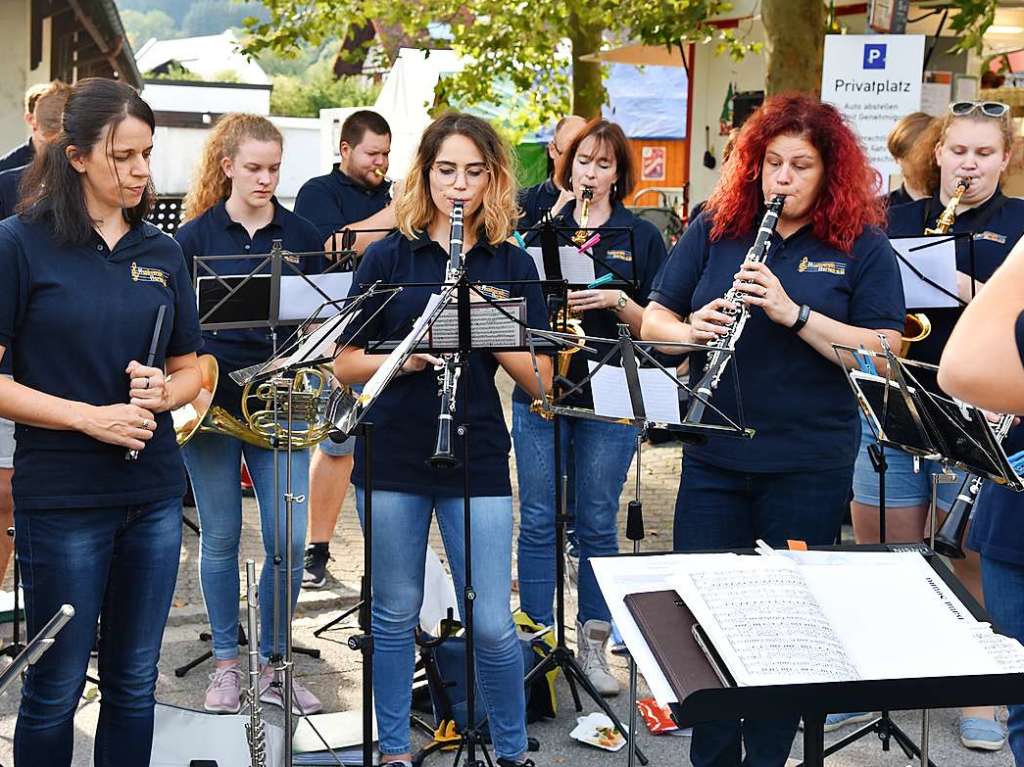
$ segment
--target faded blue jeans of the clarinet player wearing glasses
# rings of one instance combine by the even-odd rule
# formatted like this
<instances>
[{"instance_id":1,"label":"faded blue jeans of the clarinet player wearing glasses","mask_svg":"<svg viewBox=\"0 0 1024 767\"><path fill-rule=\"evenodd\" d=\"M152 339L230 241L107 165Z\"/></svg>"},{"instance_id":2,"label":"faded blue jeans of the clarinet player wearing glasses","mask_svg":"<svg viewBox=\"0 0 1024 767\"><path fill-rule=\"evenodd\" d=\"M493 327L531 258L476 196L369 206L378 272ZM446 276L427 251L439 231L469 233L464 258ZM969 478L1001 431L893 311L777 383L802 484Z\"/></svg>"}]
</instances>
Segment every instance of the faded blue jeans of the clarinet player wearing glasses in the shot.
<instances>
[{"instance_id":1,"label":"faded blue jeans of the clarinet player wearing glasses","mask_svg":"<svg viewBox=\"0 0 1024 767\"><path fill-rule=\"evenodd\" d=\"M356 488L359 521L366 492ZM381 756L412 750L415 634L423 602L423 569L430 518L444 541L449 565L466 614L465 537L462 498L441 498L375 491L373 494L374 706ZM515 759L526 751L526 713L522 651L516 637L509 596L512 593L512 499L474 498L473 628L477 685L487 712L495 751Z\"/></svg>"}]
</instances>

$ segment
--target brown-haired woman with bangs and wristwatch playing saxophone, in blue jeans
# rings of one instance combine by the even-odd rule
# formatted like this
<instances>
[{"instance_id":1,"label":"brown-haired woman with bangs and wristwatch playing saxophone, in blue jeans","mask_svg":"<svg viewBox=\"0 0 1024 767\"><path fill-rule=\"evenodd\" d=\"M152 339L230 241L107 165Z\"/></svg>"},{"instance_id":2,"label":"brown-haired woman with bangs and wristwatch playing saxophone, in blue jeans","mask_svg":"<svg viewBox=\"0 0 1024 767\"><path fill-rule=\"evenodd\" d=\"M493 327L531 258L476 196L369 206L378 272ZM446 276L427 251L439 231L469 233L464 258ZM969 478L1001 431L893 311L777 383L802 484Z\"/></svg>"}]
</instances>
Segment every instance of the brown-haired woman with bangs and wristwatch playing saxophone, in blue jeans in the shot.
<instances>
[{"instance_id":1,"label":"brown-haired woman with bangs and wristwatch playing saxophone, in blue jeans","mask_svg":"<svg viewBox=\"0 0 1024 767\"><path fill-rule=\"evenodd\" d=\"M588 123L565 147L555 179L572 195L570 202L552 211L556 225L567 230L562 237L582 231L575 244L583 245L599 232L600 242L589 248L596 278L627 284L625 290L569 291L569 315L580 318L588 336L614 339L620 324L625 324L639 338L643 307L654 275L665 262L666 250L657 227L623 204L636 183L636 168L623 129L607 120ZM585 195L590 196L586 202ZM586 214L582 212L585 209ZM581 230L584 226L587 228ZM637 288L632 287L633 282ZM598 349L602 357L604 352ZM567 378L572 382L587 376L587 356L570 357ZM620 365L617 354L608 361ZM519 479L519 605L535 622L551 626L556 588L554 424L530 412L531 399L519 388L512 394L512 437ZM570 395L565 403L592 409L590 387ZM611 613L590 558L618 553L618 498L636 452L637 432L633 426L583 418L563 418L560 427L559 450L572 482L568 495L574 499L580 546L580 665L600 694L614 695L618 681L611 675L605 654Z\"/></svg>"}]
</instances>

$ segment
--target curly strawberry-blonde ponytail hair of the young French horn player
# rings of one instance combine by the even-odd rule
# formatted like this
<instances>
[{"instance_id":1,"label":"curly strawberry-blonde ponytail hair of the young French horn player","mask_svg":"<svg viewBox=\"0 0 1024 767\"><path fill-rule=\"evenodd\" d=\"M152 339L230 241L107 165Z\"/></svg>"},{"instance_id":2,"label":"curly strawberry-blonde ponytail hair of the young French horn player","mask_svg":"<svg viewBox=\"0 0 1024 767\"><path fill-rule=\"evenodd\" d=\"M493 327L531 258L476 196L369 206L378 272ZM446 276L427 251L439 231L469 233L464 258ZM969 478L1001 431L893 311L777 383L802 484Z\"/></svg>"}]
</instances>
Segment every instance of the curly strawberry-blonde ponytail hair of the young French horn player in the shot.
<instances>
[{"instance_id":1,"label":"curly strawberry-blonde ponytail hair of the young French horn player","mask_svg":"<svg viewBox=\"0 0 1024 767\"><path fill-rule=\"evenodd\" d=\"M230 197L231 179L224 174L220 164L225 157L233 158L247 138L274 141L282 147L285 145L281 131L265 117L240 112L221 117L203 145L203 157L182 204L182 223L199 218L221 200Z\"/></svg>"}]
</instances>

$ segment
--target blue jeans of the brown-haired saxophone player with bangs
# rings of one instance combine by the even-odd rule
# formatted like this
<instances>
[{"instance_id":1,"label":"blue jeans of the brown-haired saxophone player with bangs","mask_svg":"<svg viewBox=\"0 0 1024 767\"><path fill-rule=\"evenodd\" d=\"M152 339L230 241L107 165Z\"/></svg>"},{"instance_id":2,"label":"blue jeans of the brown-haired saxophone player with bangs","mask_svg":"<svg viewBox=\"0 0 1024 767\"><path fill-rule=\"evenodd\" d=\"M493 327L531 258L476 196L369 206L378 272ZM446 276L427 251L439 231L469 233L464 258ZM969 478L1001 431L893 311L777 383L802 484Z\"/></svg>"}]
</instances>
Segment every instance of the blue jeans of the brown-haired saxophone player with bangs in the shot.
<instances>
[{"instance_id":1,"label":"blue jeans of the brown-haired saxophone player with bangs","mask_svg":"<svg viewBox=\"0 0 1024 767\"><path fill-rule=\"evenodd\" d=\"M555 441L554 424L512 402L512 441L519 479L519 604L545 626L554 622ZM580 542L579 620L610 621L594 578L591 557L618 553L618 498L636 452L636 429L582 418L560 423L562 470L573 483L575 531ZM571 453L568 450L572 441ZM560 552L559 552L560 553Z\"/></svg>"}]
</instances>

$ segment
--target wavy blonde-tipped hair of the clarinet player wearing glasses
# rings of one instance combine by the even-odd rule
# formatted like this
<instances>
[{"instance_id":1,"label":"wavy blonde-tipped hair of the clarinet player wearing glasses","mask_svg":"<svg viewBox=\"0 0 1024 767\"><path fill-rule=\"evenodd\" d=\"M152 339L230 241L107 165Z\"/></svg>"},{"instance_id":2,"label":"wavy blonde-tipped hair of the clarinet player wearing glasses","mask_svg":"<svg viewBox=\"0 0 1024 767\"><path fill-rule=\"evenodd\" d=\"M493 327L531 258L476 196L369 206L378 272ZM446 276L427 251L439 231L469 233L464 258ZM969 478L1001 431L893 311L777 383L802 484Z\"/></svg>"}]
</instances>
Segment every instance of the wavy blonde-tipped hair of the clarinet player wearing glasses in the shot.
<instances>
[{"instance_id":1,"label":"wavy blonde-tipped hair of the clarinet player wearing glasses","mask_svg":"<svg viewBox=\"0 0 1024 767\"><path fill-rule=\"evenodd\" d=\"M515 173L509 160L509 152L488 122L459 112L442 115L423 132L413 167L406 177L406 190L395 203L398 230L412 239L434 220L435 207L430 198L430 168L440 152L441 143L455 134L466 136L483 156L488 175L481 206L483 230L488 243L500 245L512 236L519 220Z\"/></svg>"}]
</instances>

